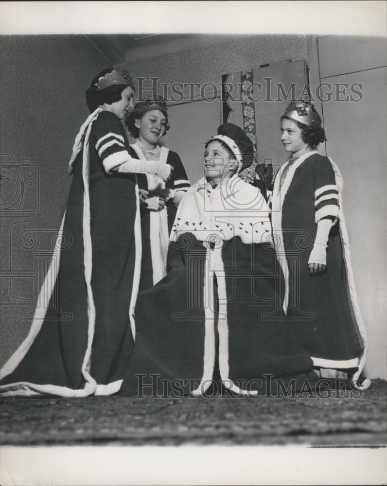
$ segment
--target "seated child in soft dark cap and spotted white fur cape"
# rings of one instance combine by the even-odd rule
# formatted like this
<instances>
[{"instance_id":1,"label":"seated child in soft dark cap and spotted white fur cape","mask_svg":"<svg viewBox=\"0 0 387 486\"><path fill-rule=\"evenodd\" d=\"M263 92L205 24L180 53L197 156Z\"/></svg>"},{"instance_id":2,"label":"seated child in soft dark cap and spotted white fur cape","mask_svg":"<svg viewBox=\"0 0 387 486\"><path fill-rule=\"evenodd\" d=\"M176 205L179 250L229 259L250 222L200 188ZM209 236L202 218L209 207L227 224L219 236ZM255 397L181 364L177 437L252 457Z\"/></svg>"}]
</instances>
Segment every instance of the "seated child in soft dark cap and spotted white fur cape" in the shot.
<instances>
[{"instance_id":1,"label":"seated child in soft dark cap and spotted white fur cape","mask_svg":"<svg viewBox=\"0 0 387 486\"><path fill-rule=\"evenodd\" d=\"M232 123L206 144L205 177L177 209L169 272L139 294L141 326L120 394L205 395L217 375L236 394L272 392L269 375L294 389L313 382L312 360L276 299L282 274L269 208L238 175L252 159L251 140Z\"/></svg>"}]
</instances>

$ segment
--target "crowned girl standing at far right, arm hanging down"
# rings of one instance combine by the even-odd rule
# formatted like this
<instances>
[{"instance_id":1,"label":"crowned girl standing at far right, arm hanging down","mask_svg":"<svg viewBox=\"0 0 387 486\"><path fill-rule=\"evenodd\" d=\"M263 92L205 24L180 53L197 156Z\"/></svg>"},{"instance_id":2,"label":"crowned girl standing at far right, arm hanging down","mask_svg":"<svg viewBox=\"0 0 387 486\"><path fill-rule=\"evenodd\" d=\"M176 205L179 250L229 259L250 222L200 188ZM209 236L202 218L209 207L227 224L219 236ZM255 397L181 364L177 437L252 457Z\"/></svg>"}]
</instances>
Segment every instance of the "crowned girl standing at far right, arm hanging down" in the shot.
<instances>
[{"instance_id":1,"label":"crowned girl standing at far right, arm hanging down","mask_svg":"<svg viewBox=\"0 0 387 486\"><path fill-rule=\"evenodd\" d=\"M367 337L352 274L342 175L316 150L326 138L313 104L291 103L281 117L281 134L291 157L275 179L272 225L286 283L283 306L321 376L352 376L359 386Z\"/></svg>"}]
</instances>

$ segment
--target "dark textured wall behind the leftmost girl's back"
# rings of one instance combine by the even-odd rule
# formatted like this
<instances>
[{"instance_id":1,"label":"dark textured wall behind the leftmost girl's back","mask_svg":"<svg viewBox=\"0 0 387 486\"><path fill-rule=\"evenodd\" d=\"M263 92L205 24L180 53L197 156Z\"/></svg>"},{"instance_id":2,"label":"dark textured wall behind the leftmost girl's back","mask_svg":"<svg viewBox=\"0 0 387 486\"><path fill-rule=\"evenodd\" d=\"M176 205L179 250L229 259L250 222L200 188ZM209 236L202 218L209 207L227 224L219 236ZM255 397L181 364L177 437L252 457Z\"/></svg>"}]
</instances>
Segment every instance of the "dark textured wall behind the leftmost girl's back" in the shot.
<instances>
[{"instance_id":1,"label":"dark textured wall behind the leftmost girl's back","mask_svg":"<svg viewBox=\"0 0 387 486\"><path fill-rule=\"evenodd\" d=\"M0 62L3 364L30 329L36 257L53 252L70 187L72 144L88 115L85 91L109 62L83 35L1 36ZM23 159L29 164L13 167ZM18 198L19 207L12 203Z\"/></svg>"}]
</instances>

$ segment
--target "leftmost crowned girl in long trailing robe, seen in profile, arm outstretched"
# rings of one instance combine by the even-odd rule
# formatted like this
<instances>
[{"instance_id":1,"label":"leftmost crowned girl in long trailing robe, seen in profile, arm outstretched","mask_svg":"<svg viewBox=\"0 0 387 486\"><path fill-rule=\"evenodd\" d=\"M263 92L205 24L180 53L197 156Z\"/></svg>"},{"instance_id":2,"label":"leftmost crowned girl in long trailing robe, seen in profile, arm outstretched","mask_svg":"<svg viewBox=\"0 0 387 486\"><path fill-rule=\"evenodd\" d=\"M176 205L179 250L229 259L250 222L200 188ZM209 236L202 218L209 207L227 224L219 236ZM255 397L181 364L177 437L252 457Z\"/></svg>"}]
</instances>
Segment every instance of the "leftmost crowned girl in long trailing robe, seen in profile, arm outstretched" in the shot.
<instances>
[{"instance_id":1,"label":"leftmost crowned girl in long trailing robe, seen in profile, arm outstretched","mask_svg":"<svg viewBox=\"0 0 387 486\"><path fill-rule=\"evenodd\" d=\"M133 349L141 264L136 173L167 180L171 166L139 160L122 120L134 86L105 69L86 92L90 116L75 138L72 183L30 333L1 370L4 395L110 395ZM59 266L60 259L60 266ZM50 298L51 295L51 298Z\"/></svg>"}]
</instances>

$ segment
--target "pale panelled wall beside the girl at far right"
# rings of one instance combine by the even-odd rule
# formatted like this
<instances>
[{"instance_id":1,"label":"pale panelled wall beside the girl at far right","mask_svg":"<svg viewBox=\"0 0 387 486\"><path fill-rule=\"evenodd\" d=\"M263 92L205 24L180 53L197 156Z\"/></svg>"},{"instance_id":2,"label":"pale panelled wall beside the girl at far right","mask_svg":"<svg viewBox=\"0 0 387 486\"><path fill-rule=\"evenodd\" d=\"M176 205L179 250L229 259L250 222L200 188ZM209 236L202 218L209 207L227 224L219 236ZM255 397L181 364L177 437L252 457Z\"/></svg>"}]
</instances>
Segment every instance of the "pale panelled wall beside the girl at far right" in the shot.
<instances>
[{"instance_id":1,"label":"pale panelled wall beside the girl at far right","mask_svg":"<svg viewBox=\"0 0 387 486\"><path fill-rule=\"evenodd\" d=\"M344 179L353 276L369 342L365 374L386 378L386 39L330 35L317 41L321 82L361 87L357 102L334 96L323 103L326 150Z\"/></svg>"}]
</instances>

